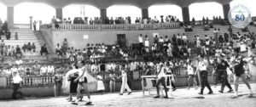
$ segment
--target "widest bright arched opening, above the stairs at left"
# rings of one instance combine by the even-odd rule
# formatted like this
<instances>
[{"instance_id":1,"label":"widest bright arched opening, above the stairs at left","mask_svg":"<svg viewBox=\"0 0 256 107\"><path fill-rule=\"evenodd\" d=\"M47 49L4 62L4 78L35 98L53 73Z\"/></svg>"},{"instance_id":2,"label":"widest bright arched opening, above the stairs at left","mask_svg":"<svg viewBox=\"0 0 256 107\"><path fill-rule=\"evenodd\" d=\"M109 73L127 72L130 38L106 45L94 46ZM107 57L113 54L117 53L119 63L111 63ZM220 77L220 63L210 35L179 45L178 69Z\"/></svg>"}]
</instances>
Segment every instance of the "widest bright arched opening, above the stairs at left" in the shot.
<instances>
[{"instance_id":1,"label":"widest bright arched opening, above the stairs at left","mask_svg":"<svg viewBox=\"0 0 256 107\"><path fill-rule=\"evenodd\" d=\"M15 24L29 24L32 20L42 20L43 24L49 24L55 16L55 8L45 3L20 3L15 6Z\"/></svg>"}]
</instances>

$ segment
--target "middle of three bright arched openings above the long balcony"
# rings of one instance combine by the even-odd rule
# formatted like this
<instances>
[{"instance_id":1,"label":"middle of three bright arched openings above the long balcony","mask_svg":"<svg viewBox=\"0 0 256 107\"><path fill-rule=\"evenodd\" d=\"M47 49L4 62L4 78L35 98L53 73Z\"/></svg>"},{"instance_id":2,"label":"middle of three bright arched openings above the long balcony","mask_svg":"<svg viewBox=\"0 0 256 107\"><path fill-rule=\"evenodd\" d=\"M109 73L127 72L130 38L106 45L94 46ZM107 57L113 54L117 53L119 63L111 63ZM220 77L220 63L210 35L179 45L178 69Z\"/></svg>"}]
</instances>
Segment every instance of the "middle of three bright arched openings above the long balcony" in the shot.
<instances>
[{"instance_id":1,"label":"middle of three bright arched openings above the long balcony","mask_svg":"<svg viewBox=\"0 0 256 107\"><path fill-rule=\"evenodd\" d=\"M142 9L131 5L113 5L107 8L107 16L109 19L113 17L113 20L118 17L131 17L131 24L134 24L136 18L142 17Z\"/></svg>"}]
</instances>

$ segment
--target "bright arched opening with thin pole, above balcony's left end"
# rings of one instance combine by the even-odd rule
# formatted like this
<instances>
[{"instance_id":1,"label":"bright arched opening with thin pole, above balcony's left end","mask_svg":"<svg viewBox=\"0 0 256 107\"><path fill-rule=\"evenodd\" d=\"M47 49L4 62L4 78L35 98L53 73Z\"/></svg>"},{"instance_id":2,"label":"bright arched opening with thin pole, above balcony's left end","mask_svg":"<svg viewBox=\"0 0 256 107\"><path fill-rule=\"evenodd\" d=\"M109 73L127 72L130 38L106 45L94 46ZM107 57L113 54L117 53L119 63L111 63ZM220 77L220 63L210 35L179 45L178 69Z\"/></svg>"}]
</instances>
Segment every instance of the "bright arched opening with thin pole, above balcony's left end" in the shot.
<instances>
[{"instance_id":1,"label":"bright arched opening with thin pole, above balcony's left end","mask_svg":"<svg viewBox=\"0 0 256 107\"><path fill-rule=\"evenodd\" d=\"M75 17L100 17L100 9L91 5L82 5L82 4L71 4L63 8L63 19L70 18L73 20Z\"/></svg>"}]
</instances>

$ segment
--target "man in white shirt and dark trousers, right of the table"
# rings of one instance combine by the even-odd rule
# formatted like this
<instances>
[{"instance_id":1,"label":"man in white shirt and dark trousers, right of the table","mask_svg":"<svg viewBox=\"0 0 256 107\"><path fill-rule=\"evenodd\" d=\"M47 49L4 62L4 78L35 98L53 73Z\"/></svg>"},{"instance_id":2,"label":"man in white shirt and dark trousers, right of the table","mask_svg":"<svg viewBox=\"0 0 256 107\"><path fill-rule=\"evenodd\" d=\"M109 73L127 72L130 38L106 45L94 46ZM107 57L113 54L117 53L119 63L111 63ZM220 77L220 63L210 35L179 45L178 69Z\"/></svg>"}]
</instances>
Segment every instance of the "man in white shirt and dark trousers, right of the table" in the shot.
<instances>
[{"instance_id":1,"label":"man in white shirt and dark trousers, right of the table","mask_svg":"<svg viewBox=\"0 0 256 107\"><path fill-rule=\"evenodd\" d=\"M204 56L201 55L200 58L199 58L199 63L198 63L198 66L197 66L197 70L196 72L199 71L200 75L201 75L201 92L199 94L203 94L204 92L204 88L207 87L208 90L209 90L209 93L208 94L212 94L212 88L210 87L209 85L209 82L207 80L207 60L204 60Z\"/></svg>"}]
</instances>

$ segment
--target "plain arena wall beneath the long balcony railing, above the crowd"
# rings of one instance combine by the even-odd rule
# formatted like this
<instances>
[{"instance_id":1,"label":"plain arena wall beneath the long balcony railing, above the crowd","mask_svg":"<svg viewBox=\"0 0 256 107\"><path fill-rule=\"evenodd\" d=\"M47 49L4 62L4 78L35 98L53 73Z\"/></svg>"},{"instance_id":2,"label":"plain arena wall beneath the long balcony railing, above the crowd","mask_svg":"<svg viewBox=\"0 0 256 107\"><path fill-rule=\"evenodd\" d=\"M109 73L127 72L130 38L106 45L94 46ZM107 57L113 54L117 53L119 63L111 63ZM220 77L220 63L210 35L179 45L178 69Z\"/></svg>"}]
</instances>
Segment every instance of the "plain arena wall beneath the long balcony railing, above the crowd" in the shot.
<instances>
[{"instance_id":1,"label":"plain arena wall beneath the long balcony railing, above the crowd","mask_svg":"<svg viewBox=\"0 0 256 107\"><path fill-rule=\"evenodd\" d=\"M40 30L51 48L55 48L57 43L62 45L64 38L67 38L69 47L85 48L87 43L105 43L113 45L117 42L117 34L125 34L126 44L129 46L132 43L138 43L139 34L148 35L150 45L154 40L153 34L159 34L161 37L184 32L183 29L168 29L168 30L147 30L147 31L64 31L64 30ZM86 38L85 35L88 35Z\"/></svg>"}]
</instances>

